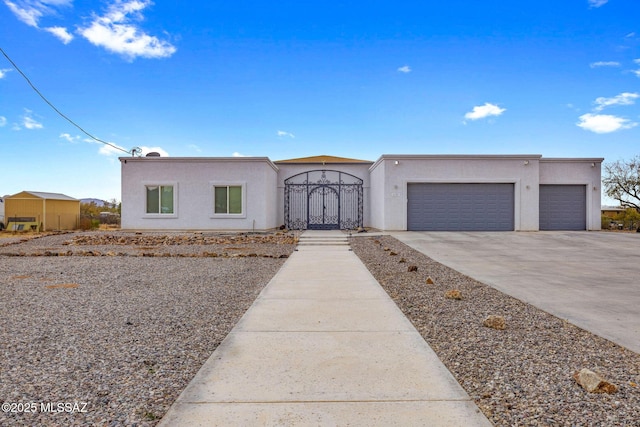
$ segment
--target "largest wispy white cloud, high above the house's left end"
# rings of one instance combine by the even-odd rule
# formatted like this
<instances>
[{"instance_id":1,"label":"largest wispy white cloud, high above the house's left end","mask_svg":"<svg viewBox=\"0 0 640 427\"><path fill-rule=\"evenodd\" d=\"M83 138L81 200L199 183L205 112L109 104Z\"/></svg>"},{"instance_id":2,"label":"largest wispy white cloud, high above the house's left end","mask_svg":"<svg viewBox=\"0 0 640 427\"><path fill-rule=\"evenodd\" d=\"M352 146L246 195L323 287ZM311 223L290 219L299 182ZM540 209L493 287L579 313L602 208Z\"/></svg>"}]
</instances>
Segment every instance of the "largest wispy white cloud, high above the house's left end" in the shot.
<instances>
[{"instance_id":1,"label":"largest wispy white cloud, high above the house's left end","mask_svg":"<svg viewBox=\"0 0 640 427\"><path fill-rule=\"evenodd\" d=\"M88 27L79 33L89 42L108 51L125 56L166 58L173 55L176 48L169 42L150 36L132 24L142 21L142 11L152 3L149 0L117 1L103 16L94 16Z\"/></svg>"}]
</instances>

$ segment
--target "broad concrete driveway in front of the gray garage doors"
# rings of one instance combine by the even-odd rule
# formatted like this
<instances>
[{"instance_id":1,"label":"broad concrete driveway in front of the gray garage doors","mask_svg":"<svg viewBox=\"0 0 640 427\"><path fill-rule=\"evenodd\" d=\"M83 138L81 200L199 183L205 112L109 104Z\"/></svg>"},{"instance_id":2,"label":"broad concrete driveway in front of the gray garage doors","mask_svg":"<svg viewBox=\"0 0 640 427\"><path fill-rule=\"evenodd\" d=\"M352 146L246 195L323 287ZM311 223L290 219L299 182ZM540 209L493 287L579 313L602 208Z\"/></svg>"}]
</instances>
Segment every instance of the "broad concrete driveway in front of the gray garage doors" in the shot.
<instances>
[{"instance_id":1,"label":"broad concrete driveway in front of the gray garage doors","mask_svg":"<svg viewBox=\"0 0 640 427\"><path fill-rule=\"evenodd\" d=\"M442 264L640 353L640 233L391 235Z\"/></svg>"}]
</instances>

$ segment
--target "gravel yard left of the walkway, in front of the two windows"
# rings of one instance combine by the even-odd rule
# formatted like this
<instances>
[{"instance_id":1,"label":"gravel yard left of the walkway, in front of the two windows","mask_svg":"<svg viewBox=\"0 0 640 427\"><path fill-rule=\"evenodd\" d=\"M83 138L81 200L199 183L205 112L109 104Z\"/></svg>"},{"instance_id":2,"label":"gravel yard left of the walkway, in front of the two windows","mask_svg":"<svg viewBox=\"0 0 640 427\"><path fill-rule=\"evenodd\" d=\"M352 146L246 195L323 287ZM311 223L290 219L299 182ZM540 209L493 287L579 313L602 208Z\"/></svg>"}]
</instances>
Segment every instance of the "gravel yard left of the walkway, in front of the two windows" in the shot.
<instances>
[{"instance_id":1,"label":"gravel yard left of the walkway, in front of the two windows","mask_svg":"<svg viewBox=\"0 0 640 427\"><path fill-rule=\"evenodd\" d=\"M0 425L155 425L294 243L283 233L0 239L0 401L21 404ZM51 413L58 403L71 406Z\"/></svg>"}]
</instances>

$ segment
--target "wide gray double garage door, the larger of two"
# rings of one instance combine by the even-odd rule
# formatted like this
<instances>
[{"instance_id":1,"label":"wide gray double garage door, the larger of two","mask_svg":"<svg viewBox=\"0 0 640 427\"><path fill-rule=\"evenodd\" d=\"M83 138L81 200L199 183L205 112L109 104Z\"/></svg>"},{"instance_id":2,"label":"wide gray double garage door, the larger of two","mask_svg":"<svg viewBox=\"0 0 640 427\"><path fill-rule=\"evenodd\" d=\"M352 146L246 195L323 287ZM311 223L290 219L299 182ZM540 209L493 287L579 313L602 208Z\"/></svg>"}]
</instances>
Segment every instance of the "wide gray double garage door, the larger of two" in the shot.
<instances>
[{"instance_id":1,"label":"wide gray double garage door, the larger of two","mask_svg":"<svg viewBox=\"0 0 640 427\"><path fill-rule=\"evenodd\" d=\"M407 185L407 230L512 231L513 184Z\"/></svg>"}]
</instances>

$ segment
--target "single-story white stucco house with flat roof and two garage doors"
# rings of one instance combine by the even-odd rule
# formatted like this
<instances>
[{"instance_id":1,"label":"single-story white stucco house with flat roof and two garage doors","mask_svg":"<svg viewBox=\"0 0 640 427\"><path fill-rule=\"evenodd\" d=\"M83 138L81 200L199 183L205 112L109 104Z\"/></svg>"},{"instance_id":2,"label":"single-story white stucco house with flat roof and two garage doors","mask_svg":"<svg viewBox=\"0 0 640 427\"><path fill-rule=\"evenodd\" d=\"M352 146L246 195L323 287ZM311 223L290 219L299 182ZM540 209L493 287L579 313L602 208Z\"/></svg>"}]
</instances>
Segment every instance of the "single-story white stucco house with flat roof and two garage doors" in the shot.
<instances>
[{"instance_id":1,"label":"single-story white stucco house with flat roof and two garage doors","mask_svg":"<svg viewBox=\"0 0 640 427\"><path fill-rule=\"evenodd\" d=\"M122 228L599 230L602 158L122 157Z\"/></svg>"}]
</instances>

